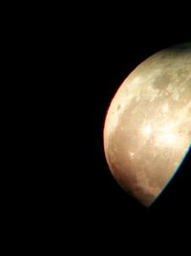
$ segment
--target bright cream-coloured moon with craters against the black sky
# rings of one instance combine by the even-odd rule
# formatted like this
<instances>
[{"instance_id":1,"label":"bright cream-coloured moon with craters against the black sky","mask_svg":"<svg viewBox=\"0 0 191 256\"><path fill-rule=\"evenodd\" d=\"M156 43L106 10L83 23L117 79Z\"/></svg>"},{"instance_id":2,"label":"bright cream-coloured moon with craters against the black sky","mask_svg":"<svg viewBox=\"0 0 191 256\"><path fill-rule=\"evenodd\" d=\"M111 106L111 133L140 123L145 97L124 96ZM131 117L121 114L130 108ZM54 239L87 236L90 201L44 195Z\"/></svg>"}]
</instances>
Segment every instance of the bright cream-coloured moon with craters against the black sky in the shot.
<instances>
[{"instance_id":1,"label":"bright cream-coloured moon with craters against the black sky","mask_svg":"<svg viewBox=\"0 0 191 256\"><path fill-rule=\"evenodd\" d=\"M122 82L103 137L117 183L150 206L190 148L191 42L147 58Z\"/></svg>"}]
</instances>

